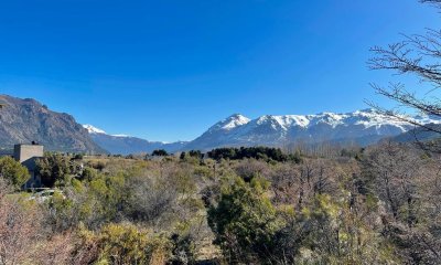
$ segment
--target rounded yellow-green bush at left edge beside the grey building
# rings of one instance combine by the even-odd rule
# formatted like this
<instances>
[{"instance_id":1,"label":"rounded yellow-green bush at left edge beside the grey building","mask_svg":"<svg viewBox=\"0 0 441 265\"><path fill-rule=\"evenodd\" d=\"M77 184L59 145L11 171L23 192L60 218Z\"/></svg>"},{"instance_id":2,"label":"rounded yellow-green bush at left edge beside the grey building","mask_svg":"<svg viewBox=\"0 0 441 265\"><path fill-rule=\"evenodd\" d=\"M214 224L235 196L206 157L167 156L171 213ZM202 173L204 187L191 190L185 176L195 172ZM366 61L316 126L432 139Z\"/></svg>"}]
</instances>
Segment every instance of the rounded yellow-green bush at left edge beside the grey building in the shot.
<instances>
[{"instance_id":1,"label":"rounded yellow-green bush at left edge beside the grey building","mask_svg":"<svg viewBox=\"0 0 441 265\"><path fill-rule=\"evenodd\" d=\"M18 189L28 181L30 174L28 169L13 158L2 157L0 158L0 177Z\"/></svg>"}]
</instances>

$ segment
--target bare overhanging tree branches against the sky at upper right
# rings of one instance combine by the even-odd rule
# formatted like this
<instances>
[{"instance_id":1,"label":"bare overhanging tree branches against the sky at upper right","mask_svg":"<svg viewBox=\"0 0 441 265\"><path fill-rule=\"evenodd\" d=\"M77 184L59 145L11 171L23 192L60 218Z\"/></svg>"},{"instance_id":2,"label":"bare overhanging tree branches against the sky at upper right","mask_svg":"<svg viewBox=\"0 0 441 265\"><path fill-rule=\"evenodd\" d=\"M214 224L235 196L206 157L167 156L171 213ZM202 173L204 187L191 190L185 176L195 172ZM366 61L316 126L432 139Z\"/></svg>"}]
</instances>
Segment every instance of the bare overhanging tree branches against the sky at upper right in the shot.
<instances>
[{"instance_id":1,"label":"bare overhanging tree branches against the sky at upper right","mask_svg":"<svg viewBox=\"0 0 441 265\"><path fill-rule=\"evenodd\" d=\"M431 3L441 9L441 0L421 0L420 2ZM389 44L387 47L374 46L370 51L374 54L368 61L372 70L389 70L398 74L411 75L429 86L415 92L408 91L401 83L391 83L389 87L372 84L379 95L392 99L398 106L385 109L376 104L368 104L394 119L407 121L426 131L441 134L439 127L418 123L410 118L407 115L409 112L406 110L413 109L441 117L441 100L433 95L433 92L441 86L441 29L429 29L423 34L404 34L401 42Z\"/></svg>"}]
</instances>

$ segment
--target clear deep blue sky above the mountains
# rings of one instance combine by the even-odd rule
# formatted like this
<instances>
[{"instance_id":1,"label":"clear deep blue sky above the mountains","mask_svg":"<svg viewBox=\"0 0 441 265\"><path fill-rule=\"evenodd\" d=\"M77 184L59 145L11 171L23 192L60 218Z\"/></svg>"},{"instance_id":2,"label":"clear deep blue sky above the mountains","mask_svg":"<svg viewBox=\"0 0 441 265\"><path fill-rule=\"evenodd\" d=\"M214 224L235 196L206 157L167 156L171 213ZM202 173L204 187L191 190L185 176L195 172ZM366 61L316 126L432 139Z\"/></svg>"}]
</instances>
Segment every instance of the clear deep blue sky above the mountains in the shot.
<instances>
[{"instance_id":1,"label":"clear deep blue sky above the mountains","mask_svg":"<svg viewBox=\"0 0 441 265\"><path fill-rule=\"evenodd\" d=\"M365 108L368 49L440 22L417 0L0 2L0 94L111 134L191 140L234 113Z\"/></svg>"}]
</instances>

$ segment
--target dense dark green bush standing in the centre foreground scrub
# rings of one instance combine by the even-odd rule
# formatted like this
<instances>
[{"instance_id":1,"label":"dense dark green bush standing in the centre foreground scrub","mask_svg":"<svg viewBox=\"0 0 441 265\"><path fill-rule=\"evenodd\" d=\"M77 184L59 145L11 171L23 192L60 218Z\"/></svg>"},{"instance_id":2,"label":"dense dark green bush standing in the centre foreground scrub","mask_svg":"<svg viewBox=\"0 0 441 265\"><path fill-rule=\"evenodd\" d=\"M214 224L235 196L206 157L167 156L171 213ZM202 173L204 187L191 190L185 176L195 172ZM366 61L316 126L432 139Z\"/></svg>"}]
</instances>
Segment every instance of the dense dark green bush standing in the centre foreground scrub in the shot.
<instances>
[{"instance_id":1,"label":"dense dark green bush standing in the centre foreground scrub","mask_svg":"<svg viewBox=\"0 0 441 265\"><path fill-rule=\"evenodd\" d=\"M236 178L222 193L217 206L208 210L208 223L230 262L266 258L280 226L276 209L258 181Z\"/></svg>"}]
</instances>

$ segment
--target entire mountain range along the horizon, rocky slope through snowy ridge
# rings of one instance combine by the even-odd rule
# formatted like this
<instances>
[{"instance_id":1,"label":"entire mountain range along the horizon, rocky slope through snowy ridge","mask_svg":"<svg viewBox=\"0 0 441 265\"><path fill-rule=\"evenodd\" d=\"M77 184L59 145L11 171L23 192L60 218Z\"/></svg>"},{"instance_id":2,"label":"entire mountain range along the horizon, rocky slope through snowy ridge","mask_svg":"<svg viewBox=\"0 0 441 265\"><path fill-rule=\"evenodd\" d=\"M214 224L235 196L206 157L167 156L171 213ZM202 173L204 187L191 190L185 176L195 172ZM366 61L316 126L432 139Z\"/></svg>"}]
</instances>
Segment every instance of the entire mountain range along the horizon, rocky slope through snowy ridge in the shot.
<instances>
[{"instance_id":1,"label":"entire mountain range along the horizon, rocky slope through snowy ridge","mask_svg":"<svg viewBox=\"0 0 441 265\"><path fill-rule=\"evenodd\" d=\"M0 95L0 148L37 141L49 150L90 153L140 153L155 149L169 152L211 150L218 147L270 146L295 142L357 144L366 146L384 138L408 139L412 125L391 119L374 109L346 114L265 115L255 119L232 115L208 128L196 139L185 142L161 142L109 135L92 125L79 125L68 114L50 110L34 99ZM428 116L416 116L421 124L440 125ZM407 132L407 134L406 134ZM409 138L410 139L410 138Z\"/></svg>"}]
</instances>

